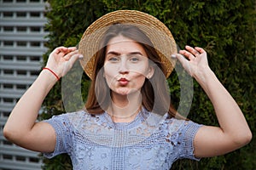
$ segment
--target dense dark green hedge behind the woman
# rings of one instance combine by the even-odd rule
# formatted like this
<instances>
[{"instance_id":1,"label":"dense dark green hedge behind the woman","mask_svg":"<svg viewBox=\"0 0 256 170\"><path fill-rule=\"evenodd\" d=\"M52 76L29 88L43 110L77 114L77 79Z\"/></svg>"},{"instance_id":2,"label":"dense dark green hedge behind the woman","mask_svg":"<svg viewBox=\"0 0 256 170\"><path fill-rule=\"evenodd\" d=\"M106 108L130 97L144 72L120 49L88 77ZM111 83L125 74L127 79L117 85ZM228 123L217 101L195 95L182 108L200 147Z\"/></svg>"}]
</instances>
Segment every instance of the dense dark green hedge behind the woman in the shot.
<instances>
[{"instance_id":1,"label":"dense dark green hedge behind the woman","mask_svg":"<svg viewBox=\"0 0 256 170\"><path fill-rule=\"evenodd\" d=\"M51 0L46 13L49 23L49 52L58 46L75 46L84 30L94 20L117 9L137 9L152 14L172 31L177 44L200 46L208 53L209 65L224 87L236 99L255 136L256 127L256 31L254 0L233 1L165 1L165 0ZM44 54L46 62L49 52ZM71 72L70 74L75 74ZM86 99L89 78L83 76L82 93ZM168 79L174 105L180 97L177 73ZM76 94L74 94L75 96ZM74 106L75 108L75 106ZM65 112L58 82L44 101L46 119ZM227 113L229 114L229 113ZM232 118L232 117L230 117ZM206 125L218 125L212 104L194 81L193 104L189 119ZM236 126L236 125L234 125ZM253 169L256 167L255 138L250 144L224 156L204 158L201 161L180 160L172 169ZM67 155L44 159L44 169L72 169Z\"/></svg>"}]
</instances>

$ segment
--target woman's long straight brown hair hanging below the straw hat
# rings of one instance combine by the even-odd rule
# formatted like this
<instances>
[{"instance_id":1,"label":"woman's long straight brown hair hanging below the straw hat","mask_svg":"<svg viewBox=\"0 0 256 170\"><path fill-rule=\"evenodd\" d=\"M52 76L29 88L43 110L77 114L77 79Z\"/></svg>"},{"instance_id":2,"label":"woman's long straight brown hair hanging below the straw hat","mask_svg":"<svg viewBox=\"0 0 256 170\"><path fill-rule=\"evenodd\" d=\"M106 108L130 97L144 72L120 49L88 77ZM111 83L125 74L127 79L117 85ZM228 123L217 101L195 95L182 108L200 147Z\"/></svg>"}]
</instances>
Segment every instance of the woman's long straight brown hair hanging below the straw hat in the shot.
<instances>
[{"instance_id":1,"label":"woman's long straight brown hair hanging below the straw hat","mask_svg":"<svg viewBox=\"0 0 256 170\"><path fill-rule=\"evenodd\" d=\"M105 36L102 38L100 50L96 53L92 82L85 104L87 111L89 111L90 114L100 114L106 111L108 105L111 103L111 90L108 88L108 84L103 77L102 68L104 66L106 48L109 40L120 35L130 38L142 45L145 52L148 54L148 60L152 61L149 64L154 66L153 77L150 79L146 78L141 89L143 107L148 111L160 115L164 115L168 112L171 117L177 116L177 111L171 104L166 77L163 74L164 65L160 62L160 56L154 48L153 43L137 26L124 24L114 24L110 26Z\"/></svg>"}]
</instances>

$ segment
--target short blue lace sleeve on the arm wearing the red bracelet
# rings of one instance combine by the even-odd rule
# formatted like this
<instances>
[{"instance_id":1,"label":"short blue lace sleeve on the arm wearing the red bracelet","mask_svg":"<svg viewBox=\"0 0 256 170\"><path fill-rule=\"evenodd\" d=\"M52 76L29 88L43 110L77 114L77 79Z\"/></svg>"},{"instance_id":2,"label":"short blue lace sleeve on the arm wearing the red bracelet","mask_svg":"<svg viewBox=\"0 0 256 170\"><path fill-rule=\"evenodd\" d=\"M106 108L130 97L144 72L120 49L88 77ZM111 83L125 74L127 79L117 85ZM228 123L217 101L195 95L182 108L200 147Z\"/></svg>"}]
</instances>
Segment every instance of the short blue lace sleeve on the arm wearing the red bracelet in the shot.
<instances>
[{"instance_id":1,"label":"short blue lace sleeve on the arm wearing the red bracelet","mask_svg":"<svg viewBox=\"0 0 256 170\"><path fill-rule=\"evenodd\" d=\"M72 126L66 114L53 116L44 122L48 122L52 127L54 127L56 134L55 150L52 153L44 153L44 156L52 158L62 153L67 153L68 148L70 148L69 145L72 142Z\"/></svg>"}]
</instances>

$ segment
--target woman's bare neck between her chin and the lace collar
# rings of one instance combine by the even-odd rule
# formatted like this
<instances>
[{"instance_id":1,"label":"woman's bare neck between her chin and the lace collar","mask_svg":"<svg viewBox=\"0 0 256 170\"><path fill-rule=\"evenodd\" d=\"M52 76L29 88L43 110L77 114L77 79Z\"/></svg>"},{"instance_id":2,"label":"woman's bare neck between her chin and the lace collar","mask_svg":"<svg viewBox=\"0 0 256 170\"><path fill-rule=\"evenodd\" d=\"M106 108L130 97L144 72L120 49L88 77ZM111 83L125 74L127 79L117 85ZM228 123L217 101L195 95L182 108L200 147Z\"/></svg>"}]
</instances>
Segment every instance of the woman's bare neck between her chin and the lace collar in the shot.
<instances>
[{"instance_id":1,"label":"woman's bare neck between her chin and the lace collar","mask_svg":"<svg viewBox=\"0 0 256 170\"><path fill-rule=\"evenodd\" d=\"M113 122L132 122L142 108L142 95L139 91L127 95L112 93L112 104L108 114Z\"/></svg>"}]
</instances>

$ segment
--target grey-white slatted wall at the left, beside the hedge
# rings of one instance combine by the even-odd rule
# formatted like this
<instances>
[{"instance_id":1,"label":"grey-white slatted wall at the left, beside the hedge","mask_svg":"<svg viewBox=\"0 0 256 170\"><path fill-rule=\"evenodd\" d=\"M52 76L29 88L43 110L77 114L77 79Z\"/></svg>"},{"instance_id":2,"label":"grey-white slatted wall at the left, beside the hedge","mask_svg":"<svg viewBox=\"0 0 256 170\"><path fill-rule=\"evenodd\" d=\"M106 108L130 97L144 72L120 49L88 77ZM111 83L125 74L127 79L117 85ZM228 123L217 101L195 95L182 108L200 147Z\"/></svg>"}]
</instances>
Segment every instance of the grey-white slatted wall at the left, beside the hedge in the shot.
<instances>
[{"instance_id":1,"label":"grey-white slatted wall at the left, beside the hedge","mask_svg":"<svg viewBox=\"0 0 256 170\"><path fill-rule=\"evenodd\" d=\"M41 169L38 153L4 139L3 126L41 69L44 7L44 0L0 0L0 170Z\"/></svg>"}]
</instances>

